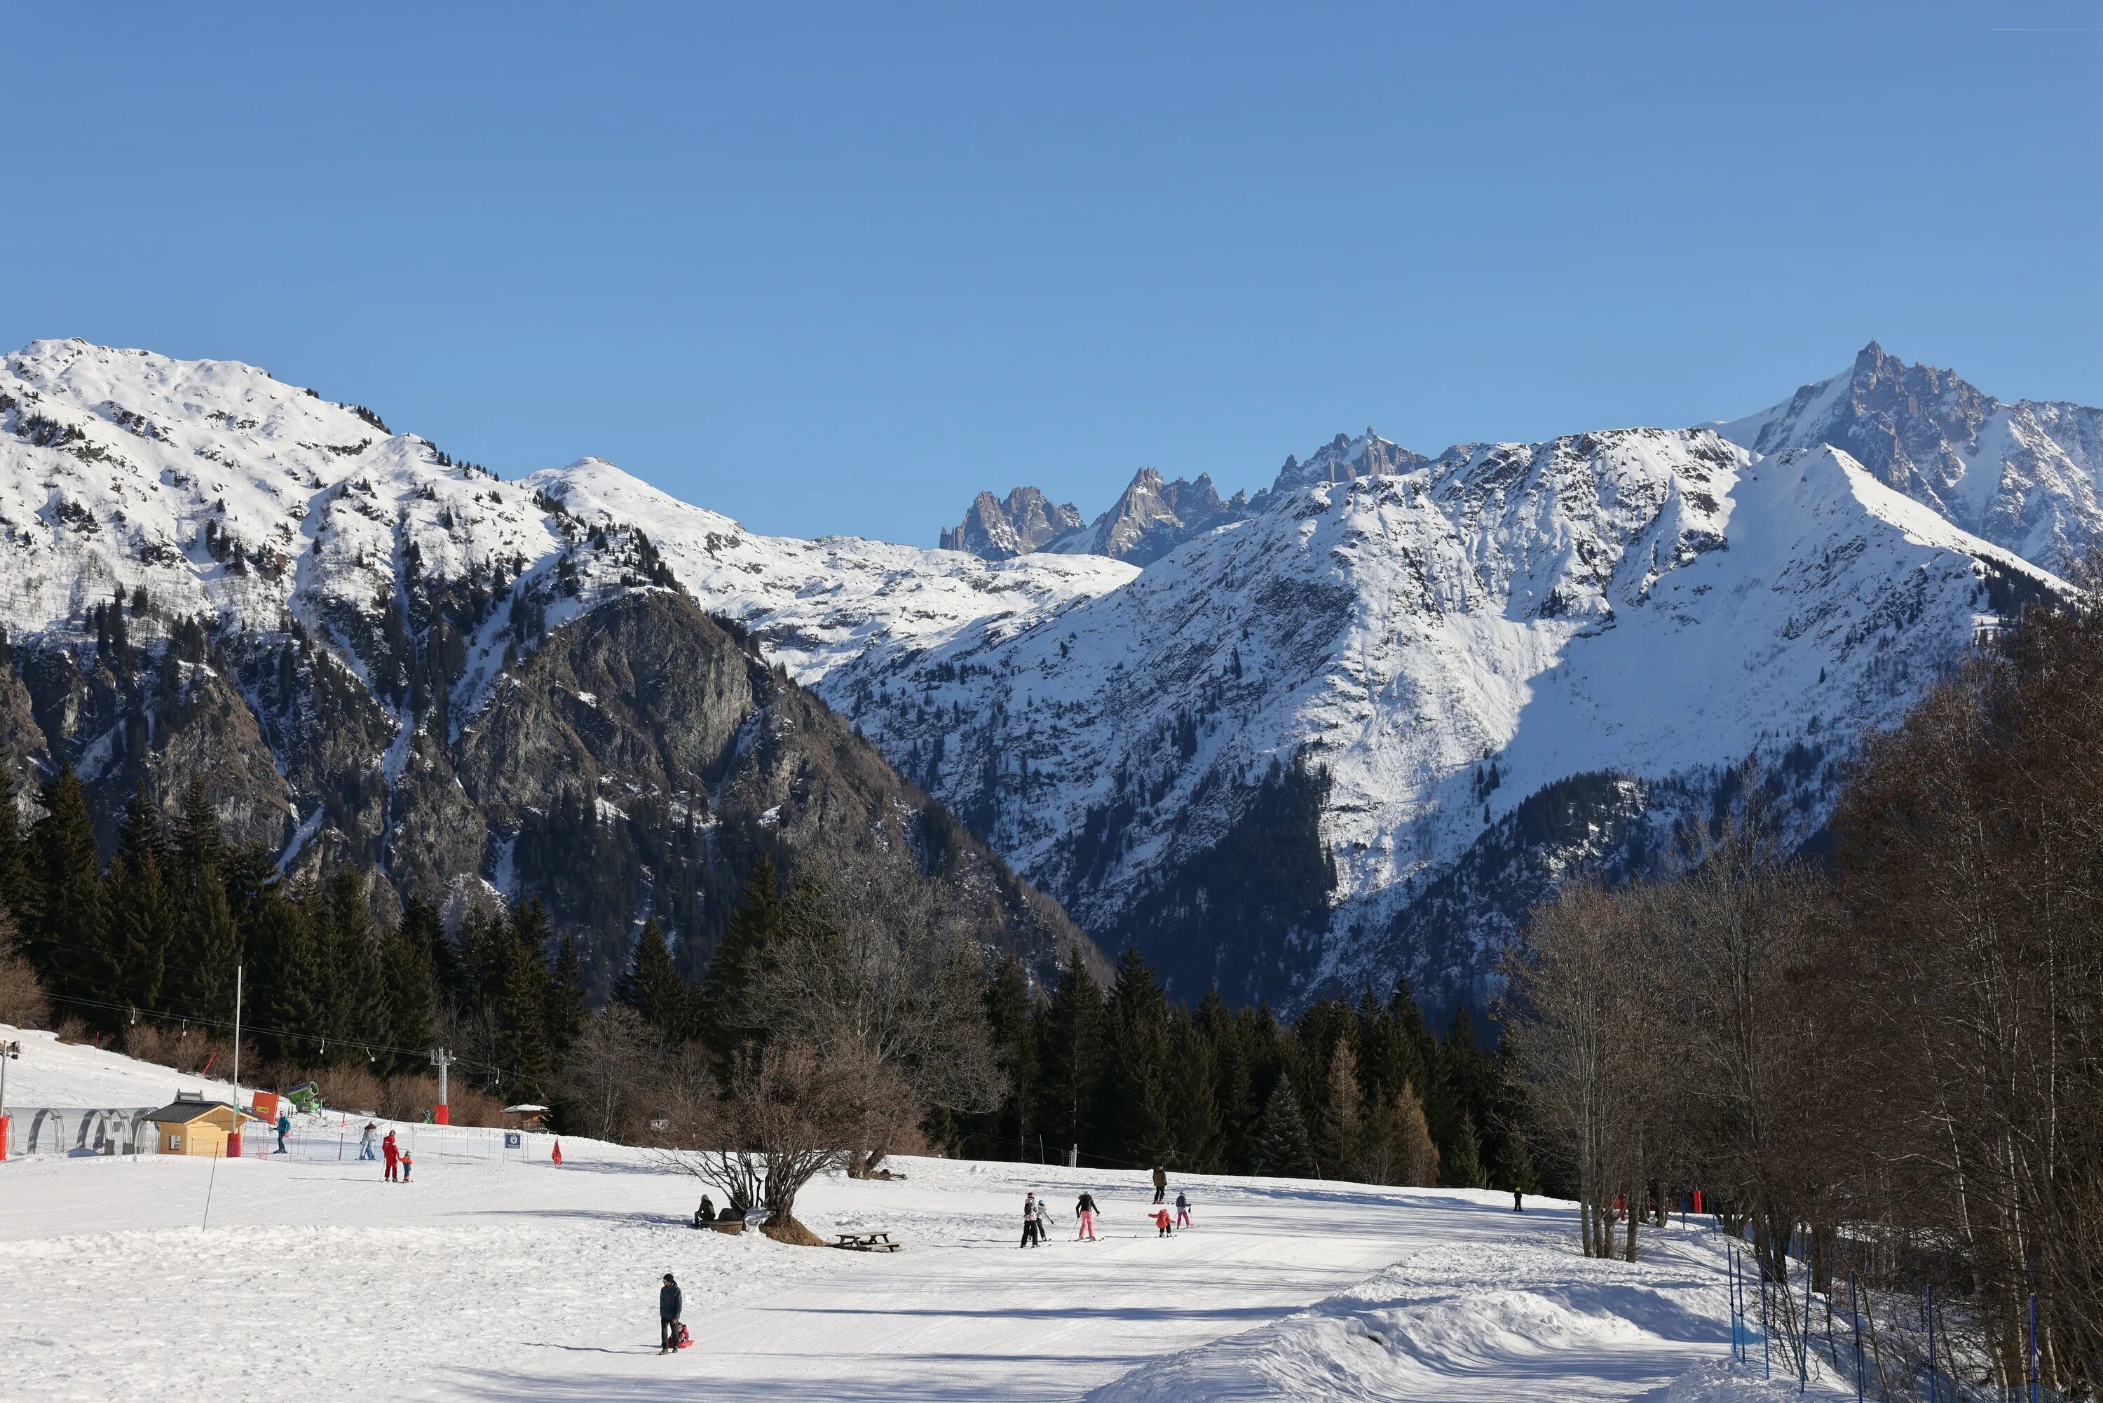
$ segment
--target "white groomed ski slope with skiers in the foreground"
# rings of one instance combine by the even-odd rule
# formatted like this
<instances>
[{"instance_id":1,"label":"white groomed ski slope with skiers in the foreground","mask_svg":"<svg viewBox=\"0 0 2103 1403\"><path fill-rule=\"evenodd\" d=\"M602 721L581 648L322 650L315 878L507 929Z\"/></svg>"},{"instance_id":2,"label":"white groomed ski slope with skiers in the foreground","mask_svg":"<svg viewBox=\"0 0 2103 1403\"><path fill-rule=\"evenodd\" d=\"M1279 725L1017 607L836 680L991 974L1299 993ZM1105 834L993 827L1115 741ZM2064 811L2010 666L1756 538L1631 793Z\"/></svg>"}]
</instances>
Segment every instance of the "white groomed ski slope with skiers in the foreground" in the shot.
<instances>
[{"instance_id":1,"label":"white groomed ski slope with skiers in the foreground","mask_svg":"<svg viewBox=\"0 0 2103 1403\"><path fill-rule=\"evenodd\" d=\"M42 1066L40 1066L42 1064ZM193 1085L25 1035L11 1104L59 1085ZM280 1159L0 1165L0 1395L38 1399L1743 1399L1720 1252L1573 1254L1567 1205L1304 1180L904 1159L814 1182L818 1233L896 1256L686 1226L700 1186L637 1151L402 1125L414 1182L355 1159L362 1117L303 1117ZM263 1136L250 1132L250 1146ZM339 1144L343 1146L339 1151ZM341 1155L341 1159L339 1159ZM1030 1188L1104 1207L1100 1243L1016 1247ZM210 1226L204 1220L210 1195ZM698 1346L656 1353L673 1270ZM1785 1392L1794 1392L1794 1380Z\"/></svg>"}]
</instances>

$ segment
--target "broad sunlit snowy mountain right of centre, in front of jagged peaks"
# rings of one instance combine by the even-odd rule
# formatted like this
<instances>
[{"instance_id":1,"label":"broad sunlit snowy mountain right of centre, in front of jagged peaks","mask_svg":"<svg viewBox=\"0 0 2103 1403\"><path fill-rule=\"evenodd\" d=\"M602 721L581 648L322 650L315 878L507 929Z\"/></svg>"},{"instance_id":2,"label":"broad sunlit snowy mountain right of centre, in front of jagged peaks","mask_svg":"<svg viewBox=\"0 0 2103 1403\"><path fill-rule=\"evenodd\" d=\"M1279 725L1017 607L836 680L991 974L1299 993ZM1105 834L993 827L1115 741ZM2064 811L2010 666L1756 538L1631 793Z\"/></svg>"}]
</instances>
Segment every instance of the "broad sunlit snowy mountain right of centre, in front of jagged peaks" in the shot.
<instances>
[{"instance_id":1,"label":"broad sunlit snowy mountain right of centre, in front of jagged peaks","mask_svg":"<svg viewBox=\"0 0 2103 1403\"><path fill-rule=\"evenodd\" d=\"M1125 589L871 648L820 690L1184 993L1411 970L1453 995L1478 959L1426 968L1390 936L1499 814L1579 772L1668 778L1888 721L1992 623L1989 581L2061 587L1844 454L1630 429L1279 492ZM1237 835L1295 757L1319 822ZM1298 938L1237 930L1237 852L1302 883L1270 913Z\"/></svg>"}]
</instances>

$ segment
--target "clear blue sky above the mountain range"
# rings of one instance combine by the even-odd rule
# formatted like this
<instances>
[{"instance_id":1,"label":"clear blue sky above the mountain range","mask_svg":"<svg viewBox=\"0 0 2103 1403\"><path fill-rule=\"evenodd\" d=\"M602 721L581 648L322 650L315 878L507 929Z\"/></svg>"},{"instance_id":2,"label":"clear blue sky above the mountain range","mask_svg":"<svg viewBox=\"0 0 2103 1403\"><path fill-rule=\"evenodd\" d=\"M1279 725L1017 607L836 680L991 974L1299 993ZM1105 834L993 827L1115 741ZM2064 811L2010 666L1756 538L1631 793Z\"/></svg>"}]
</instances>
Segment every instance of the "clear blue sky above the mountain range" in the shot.
<instances>
[{"instance_id":1,"label":"clear blue sky above the mountain range","mask_svg":"<svg viewBox=\"0 0 2103 1403\"><path fill-rule=\"evenodd\" d=\"M2103 0L240 8L6 8L0 341L930 545L1872 337L2103 402Z\"/></svg>"}]
</instances>

